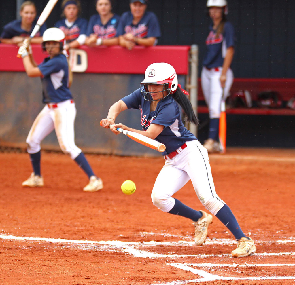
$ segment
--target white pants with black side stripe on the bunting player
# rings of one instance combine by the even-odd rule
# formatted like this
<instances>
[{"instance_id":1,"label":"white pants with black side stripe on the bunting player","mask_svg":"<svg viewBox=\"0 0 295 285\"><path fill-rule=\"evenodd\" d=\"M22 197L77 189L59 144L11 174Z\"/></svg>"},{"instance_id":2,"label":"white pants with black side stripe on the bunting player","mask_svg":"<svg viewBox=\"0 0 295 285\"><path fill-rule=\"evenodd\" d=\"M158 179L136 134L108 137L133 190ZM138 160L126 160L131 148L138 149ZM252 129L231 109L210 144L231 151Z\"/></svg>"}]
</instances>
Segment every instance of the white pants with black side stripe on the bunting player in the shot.
<instances>
[{"instance_id":1,"label":"white pants with black side stripe on the bunting player","mask_svg":"<svg viewBox=\"0 0 295 285\"><path fill-rule=\"evenodd\" d=\"M175 204L172 196L191 179L202 205L216 215L225 203L215 192L207 149L198 140L188 141L186 145L172 159L165 159L153 187L153 204L169 212Z\"/></svg>"}]
</instances>

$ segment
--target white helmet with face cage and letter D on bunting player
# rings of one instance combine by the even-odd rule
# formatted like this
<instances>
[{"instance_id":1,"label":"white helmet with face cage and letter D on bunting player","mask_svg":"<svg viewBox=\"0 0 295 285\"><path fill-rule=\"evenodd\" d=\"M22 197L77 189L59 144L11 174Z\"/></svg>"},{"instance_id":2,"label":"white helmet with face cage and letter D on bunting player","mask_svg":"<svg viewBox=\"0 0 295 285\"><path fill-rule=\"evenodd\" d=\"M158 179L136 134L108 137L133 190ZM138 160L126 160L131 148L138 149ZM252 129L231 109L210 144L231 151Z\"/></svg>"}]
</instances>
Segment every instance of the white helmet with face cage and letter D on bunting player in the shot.
<instances>
[{"instance_id":1,"label":"white helmet with face cage and letter D on bunting player","mask_svg":"<svg viewBox=\"0 0 295 285\"><path fill-rule=\"evenodd\" d=\"M143 88L141 87L141 92L145 100L152 101L149 96L148 84L163 85L163 92L168 91L168 95L175 93L178 86L175 69L166 62L152 63L147 67L145 70L145 79L140 83L141 86L143 85ZM166 96L163 94L163 98L164 97Z\"/></svg>"}]
</instances>

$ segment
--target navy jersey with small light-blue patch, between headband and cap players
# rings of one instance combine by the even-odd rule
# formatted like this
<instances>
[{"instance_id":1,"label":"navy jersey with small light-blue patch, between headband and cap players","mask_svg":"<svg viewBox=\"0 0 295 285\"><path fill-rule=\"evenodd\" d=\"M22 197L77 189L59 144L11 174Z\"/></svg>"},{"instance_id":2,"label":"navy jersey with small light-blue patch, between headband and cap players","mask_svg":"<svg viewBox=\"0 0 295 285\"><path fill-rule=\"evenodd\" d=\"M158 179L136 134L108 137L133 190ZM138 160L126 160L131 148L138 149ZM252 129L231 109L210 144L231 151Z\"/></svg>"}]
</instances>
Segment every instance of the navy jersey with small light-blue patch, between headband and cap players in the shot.
<instances>
[{"instance_id":1,"label":"navy jersey with small light-blue patch, between headband and cap players","mask_svg":"<svg viewBox=\"0 0 295 285\"><path fill-rule=\"evenodd\" d=\"M87 36L90 34L96 34L97 37L102 39L112 39L117 37L117 27L120 16L114 14L114 16L105 25L101 23L99 14L93 15L89 19L87 27Z\"/></svg>"}]
</instances>

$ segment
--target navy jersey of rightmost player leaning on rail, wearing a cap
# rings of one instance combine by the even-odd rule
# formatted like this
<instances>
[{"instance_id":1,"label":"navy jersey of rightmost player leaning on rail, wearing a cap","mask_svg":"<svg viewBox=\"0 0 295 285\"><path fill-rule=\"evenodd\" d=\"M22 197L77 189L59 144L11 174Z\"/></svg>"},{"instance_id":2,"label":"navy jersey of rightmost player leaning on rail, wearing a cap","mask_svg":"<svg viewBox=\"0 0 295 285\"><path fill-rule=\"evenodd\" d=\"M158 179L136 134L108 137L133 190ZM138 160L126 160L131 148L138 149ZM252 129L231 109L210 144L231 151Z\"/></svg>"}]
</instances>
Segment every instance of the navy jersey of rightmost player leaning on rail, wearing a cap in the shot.
<instances>
[{"instance_id":1,"label":"navy jersey of rightmost player leaning on rail, wearing a cap","mask_svg":"<svg viewBox=\"0 0 295 285\"><path fill-rule=\"evenodd\" d=\"M161 37L160 25L155 13L146 11L137 25L132 24L133 16L130 11L124 12L118 25L118 35L131 33L137 38Z\"/></svg>"}]
</instances>

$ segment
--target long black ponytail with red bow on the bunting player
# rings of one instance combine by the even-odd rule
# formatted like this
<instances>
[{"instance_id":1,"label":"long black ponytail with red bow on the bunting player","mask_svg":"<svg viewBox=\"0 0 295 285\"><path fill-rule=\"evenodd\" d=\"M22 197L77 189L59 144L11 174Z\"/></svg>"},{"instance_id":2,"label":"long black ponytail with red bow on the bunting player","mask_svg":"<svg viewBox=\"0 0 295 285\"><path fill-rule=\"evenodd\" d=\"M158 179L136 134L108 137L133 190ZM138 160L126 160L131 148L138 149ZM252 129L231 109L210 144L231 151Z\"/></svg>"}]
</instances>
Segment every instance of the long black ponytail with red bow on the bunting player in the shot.
<instances>
[{"instance_id":1,"label":"long black ponytail with red bow on the bunting player","mask_svg":"<svg viewBox=\"0 0 295 285\"><path fill-rule=\"evenodd\" d=\"M191 106L191 102L189 101L186 94L188 95L189 93L187 93L186 90L183 90L178 85L175 93L171 94L171 96L183 109L185 114L184 121L194 123L195 125L199 125L199 120L196 117L193 107Z\"/></svg>"}]
</instances>

